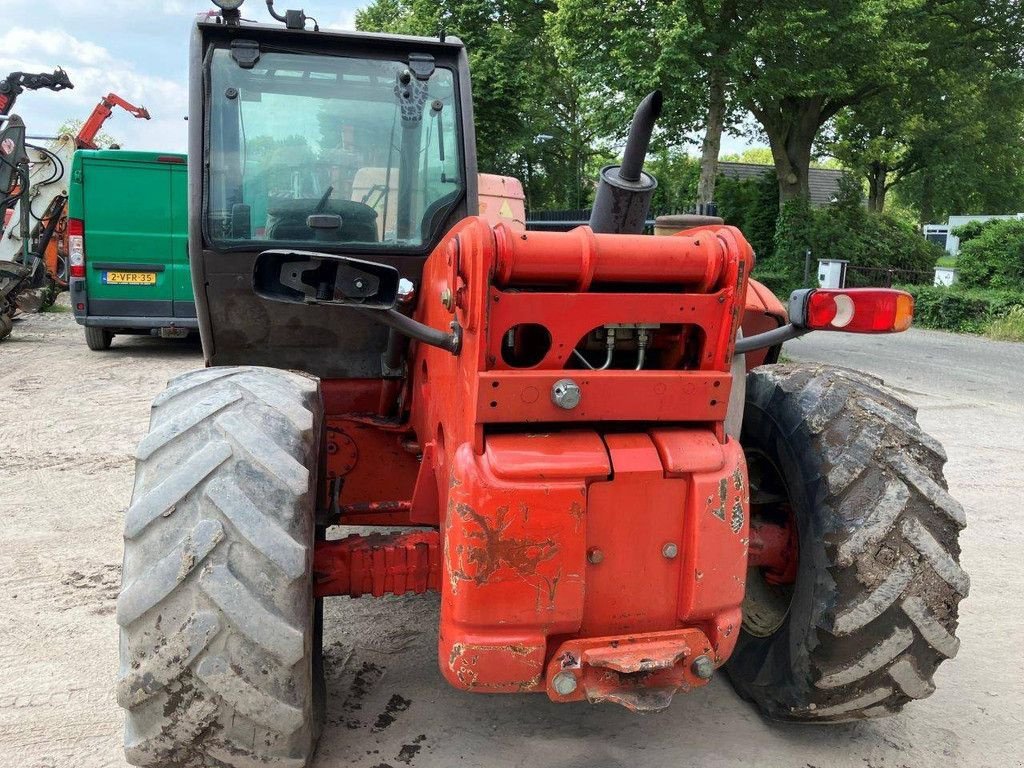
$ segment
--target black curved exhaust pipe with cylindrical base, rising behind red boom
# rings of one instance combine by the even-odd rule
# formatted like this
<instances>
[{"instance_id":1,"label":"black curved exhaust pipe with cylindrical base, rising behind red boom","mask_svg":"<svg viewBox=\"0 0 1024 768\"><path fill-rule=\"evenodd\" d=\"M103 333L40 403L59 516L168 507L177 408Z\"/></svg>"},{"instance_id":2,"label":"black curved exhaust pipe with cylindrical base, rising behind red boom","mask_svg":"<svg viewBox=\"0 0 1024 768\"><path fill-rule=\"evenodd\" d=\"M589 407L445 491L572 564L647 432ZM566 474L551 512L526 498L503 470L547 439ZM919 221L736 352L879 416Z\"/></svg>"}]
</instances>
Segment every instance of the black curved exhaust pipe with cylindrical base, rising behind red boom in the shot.
<instances>
[{"instance_id":1,"label":"black curved exhaust pipe with cylindrical base, rising behind red boom","mask_svg":"<svg viewBox=\"0 0 1024 768\"><path fill-rule=\"evenodd\" d=\"M590 228L610 234L640 234L647 221L650 200L657 179L644 173L654 121L662 114L662 91L650 93L633 116L630 135L626 139L622 165L601 169L594 208L590 212Z\"/></svg>"}]
</instances>

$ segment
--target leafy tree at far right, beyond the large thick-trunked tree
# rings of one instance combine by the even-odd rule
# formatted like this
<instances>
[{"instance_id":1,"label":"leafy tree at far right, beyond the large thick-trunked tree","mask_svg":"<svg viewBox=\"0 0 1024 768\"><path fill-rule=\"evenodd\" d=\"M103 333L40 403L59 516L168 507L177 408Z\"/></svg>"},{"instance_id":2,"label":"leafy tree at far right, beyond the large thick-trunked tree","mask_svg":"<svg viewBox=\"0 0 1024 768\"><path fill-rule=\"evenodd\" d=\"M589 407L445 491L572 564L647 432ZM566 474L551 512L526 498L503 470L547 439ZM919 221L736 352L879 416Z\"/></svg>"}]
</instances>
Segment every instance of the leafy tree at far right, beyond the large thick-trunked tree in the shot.
<instances>
[{"instance_id":1,"label":"leafy tree at far right, beyond the large thick-trunked tree","mask_svg":"<svg viewBox=\"0 0 1024 768\"><path fill-rule=\"evenodd\" d=\"M827 152L867 180L871 210L881 211L887 194L914 174L952 164L971 178L986 153L1019 157L1022 27L1012 5L973 0L919 16L925 66L843 111L826 141ZM1006 160L1013 165L1013 157Z\"/></svg>"}]
</instances>

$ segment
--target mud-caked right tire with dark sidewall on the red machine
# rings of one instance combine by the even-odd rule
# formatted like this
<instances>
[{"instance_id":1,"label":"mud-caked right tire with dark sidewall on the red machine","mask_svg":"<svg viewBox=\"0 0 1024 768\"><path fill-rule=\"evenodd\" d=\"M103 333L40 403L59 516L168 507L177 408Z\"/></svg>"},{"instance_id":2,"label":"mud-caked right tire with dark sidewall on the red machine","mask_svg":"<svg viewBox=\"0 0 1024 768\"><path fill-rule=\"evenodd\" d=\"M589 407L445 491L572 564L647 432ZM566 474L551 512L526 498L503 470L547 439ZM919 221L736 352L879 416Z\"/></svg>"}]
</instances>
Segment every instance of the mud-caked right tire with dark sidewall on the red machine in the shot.
<instances>
[{"instance_id":1,"label":"mud-caked right tire with dark sidewall on the red machine","mask_svg":"<svg viewBox=\"0 0 1024 768\"><path fill-rule=\"evenodd\" d=\"M752 522L782 510L799 564L791 585L749 569L735 688L768 718L802 722L892 715L930 695L959 646L970 582L964 509L916 411L853 371L764 366L746 379L741 443Z\"/></svg>"}]
</instances>

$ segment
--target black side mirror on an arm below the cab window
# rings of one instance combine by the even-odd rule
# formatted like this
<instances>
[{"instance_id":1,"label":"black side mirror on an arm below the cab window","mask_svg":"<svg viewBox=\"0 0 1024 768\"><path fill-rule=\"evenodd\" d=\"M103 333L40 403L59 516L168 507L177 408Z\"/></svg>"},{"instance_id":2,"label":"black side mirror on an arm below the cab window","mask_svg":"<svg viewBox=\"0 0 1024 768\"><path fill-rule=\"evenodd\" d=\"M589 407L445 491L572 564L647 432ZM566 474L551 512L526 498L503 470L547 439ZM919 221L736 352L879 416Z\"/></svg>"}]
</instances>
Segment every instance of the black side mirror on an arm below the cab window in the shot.
<instances>
[{"instance_id":1,"label":"black side mirror on an arm below the cab window","mask_svg":"<svg viewBox=\"0 0 1024 768\"><path fill-rule=\"evenodd\" d=\"M387 264L311 251L263 251L253 266L256 295L290 304L391 309L398 280Z\"/></svg>"}]
</instances>

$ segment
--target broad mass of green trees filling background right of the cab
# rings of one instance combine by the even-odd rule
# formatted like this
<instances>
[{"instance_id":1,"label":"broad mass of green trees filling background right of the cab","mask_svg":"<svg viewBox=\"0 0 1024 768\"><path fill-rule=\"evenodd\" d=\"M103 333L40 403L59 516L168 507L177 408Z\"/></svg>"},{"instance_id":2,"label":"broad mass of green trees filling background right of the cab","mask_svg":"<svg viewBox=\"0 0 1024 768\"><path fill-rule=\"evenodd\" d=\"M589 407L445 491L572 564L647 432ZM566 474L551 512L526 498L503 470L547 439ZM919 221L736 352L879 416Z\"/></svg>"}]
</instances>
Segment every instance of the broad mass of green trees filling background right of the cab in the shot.
<instances>
[{"instance_id":1,"label":"broad mass of green trees filling background right of the cab","mask_svg":"<svg viewBox=\"0 0 1024 768\"><path fill-rule=\"evenodd\" d=\"M827 125L828 154L873 179L877 204L898 183L901 219L1024 210L1020 3L370 0L356 25L466 42L479 168L521 178L531 208L586 206L654 87L666 96L655 205L686 207L683 146L708 125L714 83L726 128L750 112L771 144L735 159L774 165L778 200L806 195ZM745 209L725 201L735 193L716 197ZM752 240L767 242L758 226Z\"/></svg>"}]
</instances>

